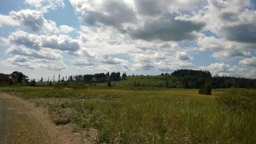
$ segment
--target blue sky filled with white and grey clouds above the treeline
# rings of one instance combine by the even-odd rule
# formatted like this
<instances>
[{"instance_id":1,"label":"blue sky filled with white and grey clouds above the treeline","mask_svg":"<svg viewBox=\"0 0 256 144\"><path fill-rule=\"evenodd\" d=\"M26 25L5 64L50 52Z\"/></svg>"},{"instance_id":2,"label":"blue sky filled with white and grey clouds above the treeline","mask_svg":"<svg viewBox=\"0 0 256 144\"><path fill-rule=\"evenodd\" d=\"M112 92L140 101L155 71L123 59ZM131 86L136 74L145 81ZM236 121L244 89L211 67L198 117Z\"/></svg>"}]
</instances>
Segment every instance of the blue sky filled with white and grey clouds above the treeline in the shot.
<instances>
[{"instance_id":1,"label":"blue sky filled with white and grey clouds above the treeline","mask_svg":"<svg viewBox=\"0 0 256 144\"><path fill-rule=\"evenodd\" d=\"M256 0L1 0L0 73L256 78Z\"/></svg>"}]
</instances>

